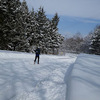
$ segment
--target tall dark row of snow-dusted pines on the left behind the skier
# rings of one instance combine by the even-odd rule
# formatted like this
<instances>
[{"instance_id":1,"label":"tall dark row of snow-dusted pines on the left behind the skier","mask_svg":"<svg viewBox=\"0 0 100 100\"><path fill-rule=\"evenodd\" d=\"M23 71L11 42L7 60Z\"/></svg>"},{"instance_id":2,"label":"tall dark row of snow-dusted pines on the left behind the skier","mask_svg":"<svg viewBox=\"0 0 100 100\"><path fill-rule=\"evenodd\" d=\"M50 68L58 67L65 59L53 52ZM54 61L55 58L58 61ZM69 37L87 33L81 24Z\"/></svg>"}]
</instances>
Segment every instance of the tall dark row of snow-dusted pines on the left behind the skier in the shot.
<instances>
[{"instance_id":1,"label":"tall dark row of snow-dusted pines on the left behind the skier","mask_svg":"<svg viewBox=\"0 0 100 100\"><path fill-rule=\"evenodd\" d=\"M58 53L64 37L58 33L59 16L47 18L44 8L29 11L26 1L0 1L0 49Z\"/></svg>"}]
</instances>

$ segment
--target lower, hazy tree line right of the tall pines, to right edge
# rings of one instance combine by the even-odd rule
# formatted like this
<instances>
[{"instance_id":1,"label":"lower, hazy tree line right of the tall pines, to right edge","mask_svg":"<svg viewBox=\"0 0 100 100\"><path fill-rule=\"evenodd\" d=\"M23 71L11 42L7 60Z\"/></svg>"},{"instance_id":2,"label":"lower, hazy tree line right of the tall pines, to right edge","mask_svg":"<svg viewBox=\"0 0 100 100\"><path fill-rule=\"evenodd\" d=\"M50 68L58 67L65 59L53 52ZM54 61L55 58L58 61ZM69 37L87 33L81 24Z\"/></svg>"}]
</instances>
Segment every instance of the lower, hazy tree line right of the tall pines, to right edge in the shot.
<instances>
[{"instance_id":1,"label":"lower, hazy tree line right of the tall pines, to right edge","mask_svg":"<svg viewBox=\"0 0 100 100\"><path fill-rule=\"evenodd\" d=\"M60 47L63 52L88 53L100 55L100 25L96 26L93 32L83 37L76 33L72 37L66 37Z\"/></svg>"}]
</instances>

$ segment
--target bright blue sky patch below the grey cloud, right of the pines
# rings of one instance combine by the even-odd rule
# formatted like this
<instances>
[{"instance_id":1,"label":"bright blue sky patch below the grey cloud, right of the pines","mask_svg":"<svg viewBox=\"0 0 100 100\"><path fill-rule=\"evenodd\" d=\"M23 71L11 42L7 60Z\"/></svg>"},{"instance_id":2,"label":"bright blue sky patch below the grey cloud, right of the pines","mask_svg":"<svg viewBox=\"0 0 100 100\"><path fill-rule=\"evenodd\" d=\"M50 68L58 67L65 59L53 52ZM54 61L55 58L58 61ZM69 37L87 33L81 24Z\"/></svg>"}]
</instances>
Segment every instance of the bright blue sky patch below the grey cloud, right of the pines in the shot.
<instances>
[{"instance_id":1,"label":"bright blue sky patch below the grey cloud, right of the pines","mask_svg":"<svg viewBox=\"0 0 100 100\"><path fill-rule=\"evenodd\" d=\"M94 30L96 25L100 25L100 20L61 16L58 27L59 32L63 35L73 35L80 32L83 36L86 36Z\"/></svg>"}]
</instances>

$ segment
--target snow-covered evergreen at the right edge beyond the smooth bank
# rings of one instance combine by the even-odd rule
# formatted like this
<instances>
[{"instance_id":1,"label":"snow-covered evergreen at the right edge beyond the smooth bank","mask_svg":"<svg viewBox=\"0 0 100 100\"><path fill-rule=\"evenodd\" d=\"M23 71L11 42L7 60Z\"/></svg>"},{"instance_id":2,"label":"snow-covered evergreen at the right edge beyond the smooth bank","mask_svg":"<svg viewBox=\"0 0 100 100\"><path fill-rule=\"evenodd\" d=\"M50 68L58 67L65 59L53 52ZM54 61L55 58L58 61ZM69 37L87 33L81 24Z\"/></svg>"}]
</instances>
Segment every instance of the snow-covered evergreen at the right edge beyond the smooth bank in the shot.
<instances>
[{"instance_id":1,"label":"snow-covered evergreen at the right edge beyond the smooth bank","mask_svg":"<svg viewBox=\"0 0 100 100\"><path fill-rule=\"evenodd\" d=\"M91 38L90 52L100 55L100 26L95 29Z\"/></svg>"}]
</instances>

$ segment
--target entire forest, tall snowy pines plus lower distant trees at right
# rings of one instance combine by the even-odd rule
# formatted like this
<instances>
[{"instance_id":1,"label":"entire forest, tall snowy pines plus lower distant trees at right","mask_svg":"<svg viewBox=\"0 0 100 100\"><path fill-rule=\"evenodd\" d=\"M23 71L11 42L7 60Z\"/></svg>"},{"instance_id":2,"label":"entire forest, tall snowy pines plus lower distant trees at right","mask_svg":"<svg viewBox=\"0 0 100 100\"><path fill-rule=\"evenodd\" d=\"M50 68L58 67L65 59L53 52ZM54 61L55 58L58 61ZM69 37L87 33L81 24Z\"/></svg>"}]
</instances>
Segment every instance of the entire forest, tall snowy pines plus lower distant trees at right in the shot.
<instances>
[{"instance_id":1,"label":"entire forest, tall snowy pines plus lower distant trees at right","mask_svg":"<svg viewBox=\"0 0 100 100\"><path fill-rule=\"evenodd\" d=\"M76 33L64 37L59 33L60 17L47 18L44 8L30 11L24 0L0 1L0 49L43 54L91 53L100 55L100 25L83 37Z\"/></svg>"}]
</instances>

